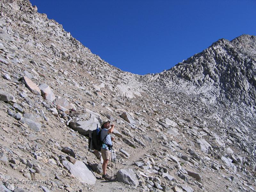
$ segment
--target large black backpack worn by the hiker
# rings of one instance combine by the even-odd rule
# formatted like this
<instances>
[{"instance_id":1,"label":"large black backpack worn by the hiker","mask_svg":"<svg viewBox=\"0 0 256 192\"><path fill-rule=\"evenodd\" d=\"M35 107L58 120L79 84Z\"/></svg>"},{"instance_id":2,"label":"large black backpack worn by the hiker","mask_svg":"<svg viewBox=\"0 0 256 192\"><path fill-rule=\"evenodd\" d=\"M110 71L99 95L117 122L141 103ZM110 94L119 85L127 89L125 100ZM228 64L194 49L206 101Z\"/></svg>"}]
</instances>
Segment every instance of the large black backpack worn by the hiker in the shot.
<instances>
[{"instance_id":1,"label":"large black backpack worn by the hiker","mask_svg":"<svg viewBox=\"0 0 256 192\"><path fill-rule=\"evenodd\" d=\"M103 144L103 141L101 141L101 139L100 139L100 134L101 134L101 128L99 128L98 124L97 124L97 129L93 130L89 134L89 140L88 140L89 146L88 147L90 149L92 149L92 150L95 149L97 151L100 151L100 148ZM106 137L107 137L107 135L105 136L105 138Z\"/></svg>"}]
</instances>

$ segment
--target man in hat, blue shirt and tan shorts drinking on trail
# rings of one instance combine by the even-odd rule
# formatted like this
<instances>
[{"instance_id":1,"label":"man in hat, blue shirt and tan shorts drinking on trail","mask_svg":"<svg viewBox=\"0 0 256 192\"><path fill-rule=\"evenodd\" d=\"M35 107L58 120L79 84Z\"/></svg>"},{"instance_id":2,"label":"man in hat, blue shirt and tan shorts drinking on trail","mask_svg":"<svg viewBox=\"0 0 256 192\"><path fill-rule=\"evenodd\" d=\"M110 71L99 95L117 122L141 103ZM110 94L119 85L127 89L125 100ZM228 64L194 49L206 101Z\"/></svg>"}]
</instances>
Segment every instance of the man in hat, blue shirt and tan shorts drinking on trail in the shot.
<instances>
[{"instance_id":1,"label":"man in hat, blue shirt and tan shorts drinking on trail","mask_svg":"<svg viewBox=\"0 0 256 192\"><path fill-rule=\"evenodd\" d=\"M110 128L111 127L111 128ZM100 139L103 142L102 147L100 149L101 156L103 159L103 164L102 164L102 170L103 170L103 175L102 179L105 180L110 180L112 179L108 174L107 174L107 166L108 166L108 161L111 161L111 149L112 149L112 141L114 140L114 137L110 137L110 134L114 131L115 125L110 125L110 121L103 121L101 124L101 134L100 134Z\"/></svg>"}]
</instances>

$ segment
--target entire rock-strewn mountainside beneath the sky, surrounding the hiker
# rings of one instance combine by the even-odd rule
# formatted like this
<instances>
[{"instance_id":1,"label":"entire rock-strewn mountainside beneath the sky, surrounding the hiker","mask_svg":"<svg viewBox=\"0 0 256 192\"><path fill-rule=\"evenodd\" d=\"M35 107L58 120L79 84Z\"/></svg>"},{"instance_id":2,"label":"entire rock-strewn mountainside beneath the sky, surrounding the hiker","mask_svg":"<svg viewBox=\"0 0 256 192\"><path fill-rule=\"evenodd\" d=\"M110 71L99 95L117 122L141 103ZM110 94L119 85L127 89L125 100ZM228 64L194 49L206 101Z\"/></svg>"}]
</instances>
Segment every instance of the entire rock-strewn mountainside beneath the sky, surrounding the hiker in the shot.
<instances>
[{"instance_id":1,"label":"entire rock-strewn mountainside beneath the sky, surrounding the hiker","mask_svg":"<svg viewBox=\"0 0 256 192\"><path fill-rule=\"evenodd\" d=\"M0 7L0 191L255 190L254 36L139 76L28 0ZM111 181L88 148L104 119L116 125Z\"/></svg>"}]
</instances>

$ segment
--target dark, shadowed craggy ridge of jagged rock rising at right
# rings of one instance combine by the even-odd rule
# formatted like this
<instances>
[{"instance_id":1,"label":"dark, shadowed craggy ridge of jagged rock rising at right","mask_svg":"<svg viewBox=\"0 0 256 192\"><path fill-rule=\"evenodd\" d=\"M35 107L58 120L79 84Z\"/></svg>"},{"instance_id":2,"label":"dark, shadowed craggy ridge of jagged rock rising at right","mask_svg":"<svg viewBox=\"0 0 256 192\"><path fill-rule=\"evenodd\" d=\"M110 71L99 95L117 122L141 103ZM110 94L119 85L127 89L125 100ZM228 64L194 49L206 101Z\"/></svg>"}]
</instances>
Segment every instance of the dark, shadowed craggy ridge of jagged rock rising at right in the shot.
<instances>
[{"instance_id":1,"label":"dark, shadowed craggy ridge of jagged rock rising at right","mask_svg":"<svg viewBox=\"0 0 256 192\"><path fill-rule=\"evenodd\" d=\"M251 107L256 104L255 53L256 36L242 35L230 42L220 39L203 52L149 78L164 84L173 82L175 77L184 78L211 102L229 100Z\"/></svg>"}]
</instances>

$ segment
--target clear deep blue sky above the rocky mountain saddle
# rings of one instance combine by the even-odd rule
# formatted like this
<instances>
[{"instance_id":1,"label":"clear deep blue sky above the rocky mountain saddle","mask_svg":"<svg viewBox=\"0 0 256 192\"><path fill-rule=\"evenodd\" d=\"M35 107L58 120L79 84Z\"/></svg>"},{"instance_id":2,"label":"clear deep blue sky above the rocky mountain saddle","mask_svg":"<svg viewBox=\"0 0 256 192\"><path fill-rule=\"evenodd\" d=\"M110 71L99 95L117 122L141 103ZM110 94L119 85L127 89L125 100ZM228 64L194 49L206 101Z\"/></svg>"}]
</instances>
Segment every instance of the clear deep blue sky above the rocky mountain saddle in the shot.
<instances>
[{"instance_id":1,"label":"clear deep blue sky above the rocky mountain saddle","mask_svg":"<svg viewBox=\"0 0 256 192\"><path fill-rule=\"evenodd\" d=\"M255 0L30 0L109 64L144 75L256 35Z\"/></svg>"}]
</instances>

